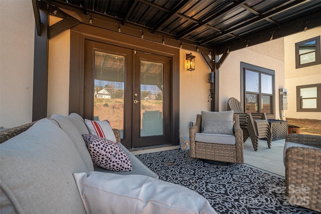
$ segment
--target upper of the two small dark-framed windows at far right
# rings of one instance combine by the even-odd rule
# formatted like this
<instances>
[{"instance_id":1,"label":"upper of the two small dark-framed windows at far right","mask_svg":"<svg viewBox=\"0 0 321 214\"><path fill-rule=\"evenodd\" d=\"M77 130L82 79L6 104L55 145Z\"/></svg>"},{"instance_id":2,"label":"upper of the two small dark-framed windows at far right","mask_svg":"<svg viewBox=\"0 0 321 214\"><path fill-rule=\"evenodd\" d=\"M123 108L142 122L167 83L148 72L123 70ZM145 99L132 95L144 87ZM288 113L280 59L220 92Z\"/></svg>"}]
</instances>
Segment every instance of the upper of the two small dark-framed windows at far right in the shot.
<instances>
[{"instance_id":1,"label":"upper of the two small dark-framed windows at far right","mask_svg":"<svg viewBox=\"0 0 321 214\"><path fill-rule=\"evenodd\" d=\"M295 43L295 68L321 64L320 36Z\"/></svg>"}]
</instances>

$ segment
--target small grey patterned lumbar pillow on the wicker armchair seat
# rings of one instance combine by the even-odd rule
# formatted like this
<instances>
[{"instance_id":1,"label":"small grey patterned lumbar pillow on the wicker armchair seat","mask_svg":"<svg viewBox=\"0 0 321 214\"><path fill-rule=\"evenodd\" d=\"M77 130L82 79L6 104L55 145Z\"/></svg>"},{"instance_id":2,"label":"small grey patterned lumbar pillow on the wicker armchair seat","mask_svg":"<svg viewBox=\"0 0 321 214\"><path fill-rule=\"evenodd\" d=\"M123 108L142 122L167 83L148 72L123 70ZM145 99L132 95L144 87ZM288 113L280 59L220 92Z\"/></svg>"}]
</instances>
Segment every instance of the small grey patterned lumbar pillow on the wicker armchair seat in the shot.
<instances>
[{"instance_id":1,"label":"small grey patterned lumbar pillow on the wicker armchair seat","mask_svg":"<svg viewBox=\"0 0 321 214\"><path fill-rule=\"evenodd\" d=\"M204 121L204 131L206 134L234 135L234 121Z\"/></svg>"}]
</instances>

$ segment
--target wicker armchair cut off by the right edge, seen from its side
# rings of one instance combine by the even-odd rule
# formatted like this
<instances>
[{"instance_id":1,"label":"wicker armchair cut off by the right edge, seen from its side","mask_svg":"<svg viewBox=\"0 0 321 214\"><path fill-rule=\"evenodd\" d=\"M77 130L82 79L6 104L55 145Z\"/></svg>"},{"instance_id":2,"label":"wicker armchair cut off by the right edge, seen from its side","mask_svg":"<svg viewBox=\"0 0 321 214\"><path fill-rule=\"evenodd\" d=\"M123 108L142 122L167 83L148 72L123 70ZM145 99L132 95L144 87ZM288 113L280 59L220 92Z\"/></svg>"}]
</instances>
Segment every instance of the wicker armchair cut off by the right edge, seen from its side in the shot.
<instances>
[{"instance_id":1,"label":"wicker armchair cut off by the right edge, seen from its side","mask_svg":"<svg viewBox=\"0 0 321 214\"><path fill-rule=\"evenodd\" d=\"M289 143L302 145L284 148L289 203L321 212L321 136L289 134L286 144Z\"/></svg>"}]
</instances>

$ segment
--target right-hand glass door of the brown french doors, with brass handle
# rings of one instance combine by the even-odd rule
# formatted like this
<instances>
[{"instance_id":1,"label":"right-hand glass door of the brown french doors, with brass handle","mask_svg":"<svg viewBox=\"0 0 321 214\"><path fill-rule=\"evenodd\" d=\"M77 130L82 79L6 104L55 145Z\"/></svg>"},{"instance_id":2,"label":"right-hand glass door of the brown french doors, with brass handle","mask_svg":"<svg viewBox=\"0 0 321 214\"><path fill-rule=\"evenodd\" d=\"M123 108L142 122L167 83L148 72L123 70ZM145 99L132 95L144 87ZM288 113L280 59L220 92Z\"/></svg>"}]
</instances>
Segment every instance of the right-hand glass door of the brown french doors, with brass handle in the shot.
<instances>
[{"instance_id":1,"label":"right-hand glass door of the brown french doors, with brass handle","mask_svg":"<svg viewBox=\"0 0 321 214\"><path fill-rule=\"evenodd\" d=\"M136 51L134 54L133 145L171 142L171 60Z\"/></svg>"}]
</instances>

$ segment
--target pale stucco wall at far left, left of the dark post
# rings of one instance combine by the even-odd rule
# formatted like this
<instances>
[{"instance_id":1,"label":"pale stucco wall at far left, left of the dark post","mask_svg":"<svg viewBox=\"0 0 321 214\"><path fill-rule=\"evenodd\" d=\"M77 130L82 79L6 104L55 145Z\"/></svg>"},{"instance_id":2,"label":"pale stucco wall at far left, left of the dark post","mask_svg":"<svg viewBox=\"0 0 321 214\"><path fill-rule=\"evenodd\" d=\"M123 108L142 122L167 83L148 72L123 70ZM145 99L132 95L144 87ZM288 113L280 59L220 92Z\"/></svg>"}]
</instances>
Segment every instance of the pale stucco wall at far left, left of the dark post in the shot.
<instances>
[{"instance_id":1,"label":"pale stucco wall at far left, left of the dark post","mask_svg":"<svg viewBox=\"0 0 321 214\"><path fill-rule=\"evenodd\" d=\"M31 1L0 1L0 126L32 121L35 18Z\"/></svg>"}]
</instances>

